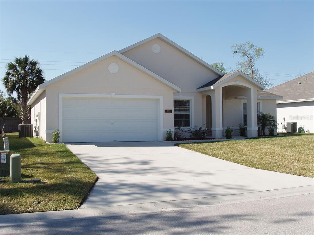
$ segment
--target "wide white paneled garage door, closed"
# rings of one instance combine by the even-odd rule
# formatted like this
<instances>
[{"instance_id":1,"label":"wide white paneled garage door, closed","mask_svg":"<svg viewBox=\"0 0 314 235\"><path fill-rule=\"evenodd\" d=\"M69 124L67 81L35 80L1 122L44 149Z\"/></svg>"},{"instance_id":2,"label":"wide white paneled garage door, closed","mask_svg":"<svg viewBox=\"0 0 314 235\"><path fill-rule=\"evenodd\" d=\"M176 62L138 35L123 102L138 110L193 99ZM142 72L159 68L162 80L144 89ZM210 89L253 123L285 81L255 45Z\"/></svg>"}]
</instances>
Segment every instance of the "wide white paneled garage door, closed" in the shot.
<instances>
[{"instance_id":1,"label":"wide white paneled garage door, closed","mask_svg":"<svg viewBox=\"0 0 314 235\"><path fill-rule=\"evenodd\" d=\"M156 99L62 98L62 142L158 140Z\"/></svg>"}]
</instances>

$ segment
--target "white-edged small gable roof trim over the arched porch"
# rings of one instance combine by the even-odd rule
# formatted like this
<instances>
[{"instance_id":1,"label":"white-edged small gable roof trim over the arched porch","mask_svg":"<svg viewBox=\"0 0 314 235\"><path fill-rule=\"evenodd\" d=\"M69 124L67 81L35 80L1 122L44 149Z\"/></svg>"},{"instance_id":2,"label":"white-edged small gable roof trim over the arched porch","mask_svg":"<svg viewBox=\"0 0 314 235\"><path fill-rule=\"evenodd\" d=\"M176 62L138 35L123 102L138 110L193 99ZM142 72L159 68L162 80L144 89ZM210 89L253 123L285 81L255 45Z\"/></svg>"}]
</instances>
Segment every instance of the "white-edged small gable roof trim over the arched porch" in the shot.
<instances>
[{"instance_id":1,"label":"white-edged small gable roof trim over the arched porch","mask_svg":"<svg viewBox=\"0 0 314 235\"><path fill-rule=\"evenodd\" d=\"M262 89L262 90L265 89L265 87L262 84L258 83L254 79L250 78L245 73L243 73L241 71L236 71L233 73L225 74L223 76L219 76L219 77L215 78L214 80L209 81L208 83L204 84L203 86L198 87L197 91L207 91L207 90L215 89L217 86L222 85L223 83L229 81L232 78L235 78L236 76L243 77L247 81L249 81L249 82L253 83L255 86L257 86L259 89Z\"/></svg>"}]
</instances>

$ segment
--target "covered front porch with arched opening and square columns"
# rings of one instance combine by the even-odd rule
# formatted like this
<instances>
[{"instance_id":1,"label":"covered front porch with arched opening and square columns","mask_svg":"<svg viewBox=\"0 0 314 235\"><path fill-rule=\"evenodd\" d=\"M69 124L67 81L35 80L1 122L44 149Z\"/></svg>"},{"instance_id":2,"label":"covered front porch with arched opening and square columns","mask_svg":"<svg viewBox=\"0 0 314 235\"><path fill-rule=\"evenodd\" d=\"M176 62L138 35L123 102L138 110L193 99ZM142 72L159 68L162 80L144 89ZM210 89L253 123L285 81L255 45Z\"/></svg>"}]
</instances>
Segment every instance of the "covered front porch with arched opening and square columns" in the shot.
<instances>
[{"instance_id":1,"label":"covered front porch with arched opening and square columns","mask_svg":"<svg viewBox=\"0 0 314 235\"><path fill-rule=\"evenodd\" d=\"M240 135L239 123L246 127L247 137L257 137L257 90L263 86L238 71L198 88L202 94L202 120L208 134L223 138L225 129Z\"/></svg>"}]
</instances>

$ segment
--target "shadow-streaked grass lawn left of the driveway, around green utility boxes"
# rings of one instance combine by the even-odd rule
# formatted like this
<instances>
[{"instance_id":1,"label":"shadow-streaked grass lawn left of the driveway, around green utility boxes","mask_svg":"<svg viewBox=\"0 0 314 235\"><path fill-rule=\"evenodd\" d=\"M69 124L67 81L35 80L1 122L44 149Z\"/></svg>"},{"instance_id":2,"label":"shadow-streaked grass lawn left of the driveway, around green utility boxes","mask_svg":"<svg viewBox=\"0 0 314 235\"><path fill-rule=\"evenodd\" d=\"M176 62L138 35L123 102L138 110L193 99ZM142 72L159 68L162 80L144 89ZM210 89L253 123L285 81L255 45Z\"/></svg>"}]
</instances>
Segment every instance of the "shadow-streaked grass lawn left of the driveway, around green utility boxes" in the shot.
<instances>
[{"instance_id":1,"label":"shadow-streaked grass lawn left of the driveway, around green utility boxes","mask_svg":"<svg viewBox=\"0 0 314 235\"><path fill-rule=\"evenodd\" d=\"M97 176L64 144L46 144L38 138L9 138L11 154L22 156L22 180L41 183L0 183L0 214L76 209L93 187ZM1 149L3 140L1 138ZM1 177L4 178L4 177Z\"/></svg>"}]
</instances>

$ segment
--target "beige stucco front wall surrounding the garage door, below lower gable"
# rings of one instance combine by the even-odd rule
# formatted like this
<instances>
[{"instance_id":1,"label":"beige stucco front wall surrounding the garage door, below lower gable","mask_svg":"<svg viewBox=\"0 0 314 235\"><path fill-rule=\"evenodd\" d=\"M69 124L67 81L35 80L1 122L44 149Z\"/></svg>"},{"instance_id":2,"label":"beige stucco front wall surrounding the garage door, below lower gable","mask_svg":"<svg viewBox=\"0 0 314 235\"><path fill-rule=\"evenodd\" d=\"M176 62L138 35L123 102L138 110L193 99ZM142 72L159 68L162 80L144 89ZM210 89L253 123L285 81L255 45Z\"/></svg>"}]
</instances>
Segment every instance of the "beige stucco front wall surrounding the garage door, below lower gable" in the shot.
<instances>
[{"instance_id":1,"label":"beige stucco front wall surrounding the garage door, below lower gable","mask_svg":"<svg viewBox=\"0 0 314 235\"><path fill-rule=\"evenodd\" d=\"M108 71L111 63L119 65L116 74ZM51 142L51 132L59 128L59 93L163 96L163 109L173 110L173 90L170 87L111 56L46 87L46 106L49 107L46 110L47 142ZM163 113L163 128L173 129L173 112Z\"/></svg>"}]
</instances>

